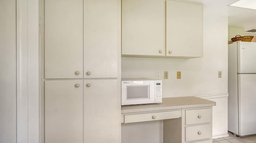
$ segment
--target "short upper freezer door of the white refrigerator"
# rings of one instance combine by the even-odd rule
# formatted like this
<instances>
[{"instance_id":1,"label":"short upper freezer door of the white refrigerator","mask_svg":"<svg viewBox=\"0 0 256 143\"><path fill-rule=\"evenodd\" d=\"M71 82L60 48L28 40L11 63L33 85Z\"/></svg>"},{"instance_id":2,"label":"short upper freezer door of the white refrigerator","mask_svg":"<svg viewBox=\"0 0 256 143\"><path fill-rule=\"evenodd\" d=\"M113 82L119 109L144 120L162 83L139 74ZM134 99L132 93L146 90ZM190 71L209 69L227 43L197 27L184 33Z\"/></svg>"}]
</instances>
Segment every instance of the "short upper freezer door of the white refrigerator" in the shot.
<instances>
[{"instance_id":1,"label":"short upper freezer door of the white refrigerator","mask_svg":"<svg viewBox=\"0 0 256 143\"><path fill-rule=\"evenodd\" d=\"M238 42L238 73L256 73L256 43Z\"/></svg>"}]
</instances>

